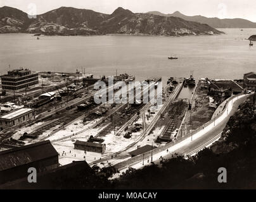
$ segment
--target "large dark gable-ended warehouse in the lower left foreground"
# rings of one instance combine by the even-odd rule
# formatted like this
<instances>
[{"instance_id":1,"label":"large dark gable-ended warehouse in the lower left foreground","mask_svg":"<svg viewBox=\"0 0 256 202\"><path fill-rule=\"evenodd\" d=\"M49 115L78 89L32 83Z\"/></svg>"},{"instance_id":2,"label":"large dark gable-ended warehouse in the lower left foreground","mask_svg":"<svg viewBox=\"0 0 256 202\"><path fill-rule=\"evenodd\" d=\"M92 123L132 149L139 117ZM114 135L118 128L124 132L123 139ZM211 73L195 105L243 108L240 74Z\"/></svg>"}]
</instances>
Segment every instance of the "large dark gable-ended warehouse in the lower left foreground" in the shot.
<instances>
[{"instance_id":1,"label":"large dark gable-ended warehouse in the lower left foreground","mask_svg":"<svg viewBox=\"0 0 256 202\"><path fill-rule=\"evenodd\" d=\"M0 184L27 177L29 167L39 173L58 165L58 152L49 140L0 151Z\"/></svg>"}]
</instances>

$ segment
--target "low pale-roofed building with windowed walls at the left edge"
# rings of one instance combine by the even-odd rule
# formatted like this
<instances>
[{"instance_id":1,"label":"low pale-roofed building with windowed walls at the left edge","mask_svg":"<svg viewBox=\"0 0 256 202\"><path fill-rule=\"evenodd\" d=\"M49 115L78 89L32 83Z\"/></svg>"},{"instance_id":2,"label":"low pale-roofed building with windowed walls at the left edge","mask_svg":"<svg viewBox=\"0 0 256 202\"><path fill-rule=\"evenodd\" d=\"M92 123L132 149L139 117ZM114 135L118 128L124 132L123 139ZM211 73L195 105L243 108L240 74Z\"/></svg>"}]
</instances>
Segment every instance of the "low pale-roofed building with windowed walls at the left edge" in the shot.
<instances>
[{"instance_id":1,"label":"low pale-roofed building with windowed walls at the left edge","mask_svg":"<svg viewBox=\"0 0 256 202\"><path fill-rule=\"evenodd\" d=\"M35 110L30 108L22 108L12 111L0 117L0 129L3 130L8 127L16 126L22 122L34 119Z\"/></svg>"}]
</instances>

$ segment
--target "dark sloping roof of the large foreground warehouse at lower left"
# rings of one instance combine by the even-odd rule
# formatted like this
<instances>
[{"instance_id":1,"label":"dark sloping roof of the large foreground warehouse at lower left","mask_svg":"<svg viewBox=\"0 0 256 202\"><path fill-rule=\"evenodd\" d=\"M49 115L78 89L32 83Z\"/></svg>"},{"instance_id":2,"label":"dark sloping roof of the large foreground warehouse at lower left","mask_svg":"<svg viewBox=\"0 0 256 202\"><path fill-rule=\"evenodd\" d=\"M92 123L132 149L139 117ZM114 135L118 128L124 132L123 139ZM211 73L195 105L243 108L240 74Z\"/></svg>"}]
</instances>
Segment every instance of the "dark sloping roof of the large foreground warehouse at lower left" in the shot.
<instances>
[{"instance_id":1,"label":"dark sloping roof of the large foreground warehouse at lower left","mask_svg":"<svg viewBox=\"0 0 256 202\"><path fill-rule=\"evenodd\" d=\"M0 171L55 156L58 152L49 140L0 151Z\"/></svg>"}]
</instances>

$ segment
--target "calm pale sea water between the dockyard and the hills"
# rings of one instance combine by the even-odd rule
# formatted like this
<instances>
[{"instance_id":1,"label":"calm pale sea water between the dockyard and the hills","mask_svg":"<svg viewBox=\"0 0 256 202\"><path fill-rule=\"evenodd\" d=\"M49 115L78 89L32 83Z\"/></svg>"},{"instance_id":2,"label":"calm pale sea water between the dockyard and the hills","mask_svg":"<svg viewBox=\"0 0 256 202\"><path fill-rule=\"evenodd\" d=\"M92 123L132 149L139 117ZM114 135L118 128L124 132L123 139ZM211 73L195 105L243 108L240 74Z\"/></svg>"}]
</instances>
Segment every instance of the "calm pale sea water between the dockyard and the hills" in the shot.
<instances>
[{"instance_id":1,"label":"calm pale sea water between the dockyard and the hills","mask_svg":"<svg viewBox=\"0 0 256 202\"><path fill-rule=\"evenodd\" d=\"M256 29L220 29L226 34L193 37L91 36L36 37L13 33L0 35L0 72L27 67L34 71L74 72L94 75L130 73L137 80L151 76L242 78L256 71L256 43L248 37ZM178 60L169 60L177 56Z\"/></svg>"}]
</instances>

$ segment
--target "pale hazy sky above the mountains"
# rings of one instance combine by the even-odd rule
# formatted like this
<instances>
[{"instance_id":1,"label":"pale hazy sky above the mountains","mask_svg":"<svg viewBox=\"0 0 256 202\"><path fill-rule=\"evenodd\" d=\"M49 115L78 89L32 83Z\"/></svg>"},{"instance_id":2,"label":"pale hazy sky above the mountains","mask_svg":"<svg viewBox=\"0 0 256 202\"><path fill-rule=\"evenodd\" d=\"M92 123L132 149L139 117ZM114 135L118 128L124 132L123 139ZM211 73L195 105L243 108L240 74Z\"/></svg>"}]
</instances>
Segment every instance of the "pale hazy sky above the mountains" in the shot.
<instances>
[{"instance_id":1,"label":"pale hazy sky above the mountains","mask_svg":"<svg viewBox=\"0 0 256 202\"><path fill-rule=\"evenodd\" d=\"M256 22L255 0L0 0L0 7L11 6L30 14L42 14L61 6L93 9L112 13L117 7L134 13L160 11L184 15L203 15L219 18L245 18Z\"/></svg>"}]
</instances>

